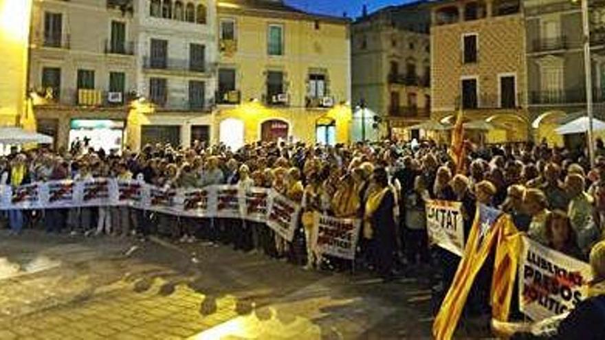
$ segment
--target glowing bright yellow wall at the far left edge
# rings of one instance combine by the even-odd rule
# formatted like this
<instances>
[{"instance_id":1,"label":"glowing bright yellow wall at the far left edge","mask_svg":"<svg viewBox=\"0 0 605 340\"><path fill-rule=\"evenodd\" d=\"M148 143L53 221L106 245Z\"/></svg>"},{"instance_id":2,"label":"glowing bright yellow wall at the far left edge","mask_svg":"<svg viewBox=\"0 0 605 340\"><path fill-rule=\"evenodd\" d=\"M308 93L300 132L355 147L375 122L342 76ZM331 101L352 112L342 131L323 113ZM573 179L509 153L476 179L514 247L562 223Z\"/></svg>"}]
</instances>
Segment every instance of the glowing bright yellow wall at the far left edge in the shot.
<instances>
[{"instance_id":1,"label":"glowing bright yellow wall at the far left edge","mask_svg":"<svg viewBox=\"0 0 605 340\"><path fill-rule=\"evenodd\" d=\"M22 124L32 0L0 0L0 126Z\"/></svg>"}]
</instances>

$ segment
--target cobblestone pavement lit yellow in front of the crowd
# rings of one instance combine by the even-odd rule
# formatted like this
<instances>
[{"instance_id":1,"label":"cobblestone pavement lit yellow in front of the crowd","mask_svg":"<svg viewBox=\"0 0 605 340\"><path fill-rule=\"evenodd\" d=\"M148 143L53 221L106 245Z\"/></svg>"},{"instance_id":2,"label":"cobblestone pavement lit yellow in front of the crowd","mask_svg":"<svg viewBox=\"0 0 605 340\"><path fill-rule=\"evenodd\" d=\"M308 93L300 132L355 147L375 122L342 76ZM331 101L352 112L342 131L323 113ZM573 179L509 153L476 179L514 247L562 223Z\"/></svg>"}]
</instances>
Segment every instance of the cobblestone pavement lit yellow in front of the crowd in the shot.
<instances>
[{"instance_id":1,"label":"cobblestone pavement lit yellow in front of the crowd","mask_svg":"<svg viewBox=\"0 0 605 340\"><path fill-rule=\"evenodd\" d=\"M212 245L0 234L0 339L419 339L426 284Z\"/></svg>"}]
</instances>

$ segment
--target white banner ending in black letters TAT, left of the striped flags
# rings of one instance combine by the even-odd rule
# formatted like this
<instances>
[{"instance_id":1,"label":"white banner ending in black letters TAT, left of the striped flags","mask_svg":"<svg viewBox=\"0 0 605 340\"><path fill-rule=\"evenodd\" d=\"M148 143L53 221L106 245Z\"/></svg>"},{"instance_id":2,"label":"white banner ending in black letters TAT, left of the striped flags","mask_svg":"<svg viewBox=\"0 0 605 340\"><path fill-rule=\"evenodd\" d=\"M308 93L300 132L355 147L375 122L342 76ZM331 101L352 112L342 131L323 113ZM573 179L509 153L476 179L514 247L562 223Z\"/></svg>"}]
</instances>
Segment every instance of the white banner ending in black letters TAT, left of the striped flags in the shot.
<instances>
[{"instance_id":1,"label":"white banner ending in black letters TAT, left of the striped flags","mask_svg":"<svg viewBox=\"0 0 605 340\"><path fill-rule=\"evenodd\" d=\"M426 201L426 230L431 244L462 256L464 224L462 203L452 201Z\"/></svg>"}]
</instances>

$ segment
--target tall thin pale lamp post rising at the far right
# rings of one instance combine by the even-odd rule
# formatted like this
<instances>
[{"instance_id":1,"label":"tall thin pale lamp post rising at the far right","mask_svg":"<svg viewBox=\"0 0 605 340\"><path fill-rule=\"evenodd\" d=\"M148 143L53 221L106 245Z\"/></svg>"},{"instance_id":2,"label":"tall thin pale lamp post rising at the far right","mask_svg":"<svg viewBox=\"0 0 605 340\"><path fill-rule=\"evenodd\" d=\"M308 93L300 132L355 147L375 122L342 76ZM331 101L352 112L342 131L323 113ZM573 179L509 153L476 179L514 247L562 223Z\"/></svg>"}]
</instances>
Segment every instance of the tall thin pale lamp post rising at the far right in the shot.
<instances>
[{"instance_id":1,"label":"tall thin pale lamp post rising at the far right","mask_svg":"<svg viewBox=\"0 0 605 340\"><path fill-rule=\"evenodd\" d=\"M577 2L578 0L573 0ZM591 27L588 21L588 0L579 0L582 5L582 35L584 42L584 76L586 81L586 115L588 115L588 158L595 166L595 145L593 139L593 69L591 65Z\"/></svg>"}]
</instances>

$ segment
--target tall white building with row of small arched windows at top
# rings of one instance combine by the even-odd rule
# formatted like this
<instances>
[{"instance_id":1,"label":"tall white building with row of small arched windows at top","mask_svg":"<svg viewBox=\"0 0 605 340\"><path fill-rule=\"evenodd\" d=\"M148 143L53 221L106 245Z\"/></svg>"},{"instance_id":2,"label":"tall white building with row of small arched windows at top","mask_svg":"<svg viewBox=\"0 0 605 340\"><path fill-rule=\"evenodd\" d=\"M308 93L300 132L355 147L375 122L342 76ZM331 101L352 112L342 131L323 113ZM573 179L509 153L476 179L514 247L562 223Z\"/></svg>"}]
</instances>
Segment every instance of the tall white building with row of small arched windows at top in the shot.
<instances>
[{"instance_id":1,"label":"tall white building with row of small arched windows at top","mask_svg":"<svg viewBox=\"0 0 605 340\"><path fill-rule=\"evenodd\" d=\"M137 93L129 144L209 142L216 90L214 0L137 0Z\"/></svg>"}]
</instances>

